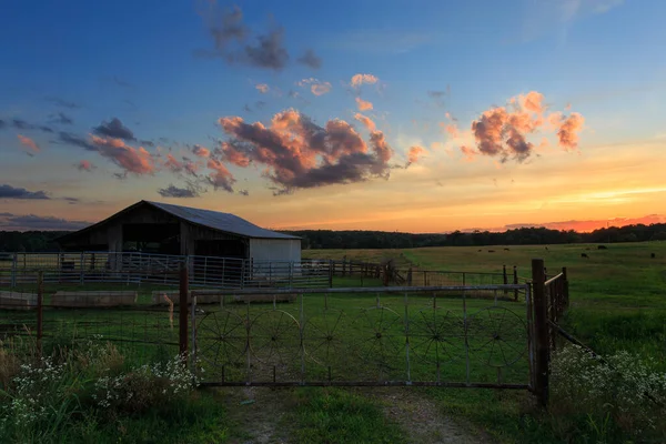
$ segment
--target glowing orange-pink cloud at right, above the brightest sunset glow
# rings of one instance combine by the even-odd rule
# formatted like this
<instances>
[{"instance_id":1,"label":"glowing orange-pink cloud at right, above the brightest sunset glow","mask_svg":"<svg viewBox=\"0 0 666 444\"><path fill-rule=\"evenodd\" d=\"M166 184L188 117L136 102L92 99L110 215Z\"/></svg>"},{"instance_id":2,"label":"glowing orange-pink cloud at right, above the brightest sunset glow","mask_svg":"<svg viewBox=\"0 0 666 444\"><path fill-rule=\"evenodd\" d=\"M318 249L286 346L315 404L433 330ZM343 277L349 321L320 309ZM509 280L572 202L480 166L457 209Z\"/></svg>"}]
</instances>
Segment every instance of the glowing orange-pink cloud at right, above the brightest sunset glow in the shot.
<instances>
[{"instance_id":1,"label":"glowing orange-pink cloud at right, above the brightest sunset glow","mask_svg":"<svg viewBox=\"0 0 666 444\"><path fill-rule=\"evenodd\" d=\"M535 145L527 137L539 130L544 122L557 122L558 113L544 119L546 107L539 92L516 95L508 100L506 107L495 107L484 111L472 122L472 132L476 148L481 154L500 158L502 162L509 158L518 162L527 159ZM571 120L569 120L571 119ZM576 132L583 125L583 117L573 113L569 119L559 123L558 138L561 145L571 149L577 143Z\"/></svg>"}]
</instances>

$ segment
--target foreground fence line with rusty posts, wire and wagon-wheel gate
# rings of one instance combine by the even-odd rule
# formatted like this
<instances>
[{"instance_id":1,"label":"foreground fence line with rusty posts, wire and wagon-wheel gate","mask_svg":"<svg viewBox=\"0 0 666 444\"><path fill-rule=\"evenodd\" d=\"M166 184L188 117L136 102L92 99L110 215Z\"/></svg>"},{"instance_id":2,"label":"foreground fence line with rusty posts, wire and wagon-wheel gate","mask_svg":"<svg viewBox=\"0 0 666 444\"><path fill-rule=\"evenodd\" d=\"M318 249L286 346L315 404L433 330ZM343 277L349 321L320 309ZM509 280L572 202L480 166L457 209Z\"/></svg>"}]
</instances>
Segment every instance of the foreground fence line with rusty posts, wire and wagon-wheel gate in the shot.
<instances>
[{"instance_id":1,"label":"foreground fence line with rusty posts, wire and wagon-wheel gate","mask_svg":"<svg viewBox=\"0 0 666 444\"><path fill-rule=\"evenodd\" d=\"M140 268L79 287L48 280L51 268L26 272L0 287L0 346L78 340L137 361L180 353L210 385L522 389L547 402L552 322L568 282L566 270L546 280L542 260L517 284L344 289L201 286L190 264L149 283L140 276L154 271ZM515 291L525 299L504 297Z\"/></svg>"}]
</instances>

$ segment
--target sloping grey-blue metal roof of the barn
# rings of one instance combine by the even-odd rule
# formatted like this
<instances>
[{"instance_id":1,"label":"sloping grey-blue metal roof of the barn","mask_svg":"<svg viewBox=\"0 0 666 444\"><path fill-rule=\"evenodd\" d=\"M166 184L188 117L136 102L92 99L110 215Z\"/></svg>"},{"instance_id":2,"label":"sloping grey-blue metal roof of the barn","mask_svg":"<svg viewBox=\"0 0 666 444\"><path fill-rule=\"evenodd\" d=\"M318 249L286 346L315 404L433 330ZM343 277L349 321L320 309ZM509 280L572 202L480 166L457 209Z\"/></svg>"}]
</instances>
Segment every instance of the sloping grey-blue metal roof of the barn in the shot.
<instances>
[{"instance_id":1,"label":"sloping grey-blue metal roof of the barn","mask_svg":"<svg viewBox=\"0 0 666 444\"><path fill-rule=\"evenodd\" d=\"M255 239L300 239L289 234L278 233L275 231L262 229L255 224L248 222L238 215L222 213L212 210L201 210L190 206L172 205L169 203L143 201L162 211L165 211L175 218L188 222L206 226L213 230L224 231L226 233L239 234L245 238Z\"/></svg>"}]
</instances>

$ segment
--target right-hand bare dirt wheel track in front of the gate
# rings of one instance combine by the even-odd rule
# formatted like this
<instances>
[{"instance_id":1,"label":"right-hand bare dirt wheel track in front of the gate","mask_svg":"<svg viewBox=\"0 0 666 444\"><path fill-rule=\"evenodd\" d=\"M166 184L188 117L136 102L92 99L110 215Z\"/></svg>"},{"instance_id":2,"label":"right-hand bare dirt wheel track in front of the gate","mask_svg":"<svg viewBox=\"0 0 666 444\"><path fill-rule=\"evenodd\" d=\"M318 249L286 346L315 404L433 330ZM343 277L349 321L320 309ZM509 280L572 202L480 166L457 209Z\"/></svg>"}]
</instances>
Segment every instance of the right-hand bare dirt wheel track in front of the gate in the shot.
<instances>
[{"instance_id":1,"label":"right-hand bare dirt wheel track in front of the gate","mask_svg":"<svg viewBox=\"0 0 666 444\"><path fill-rule=\"evenodd\" d=\"M493 443L485 433L445 416L432 400L414 389L377 387L367 395L377 400L386 417L401 426L408 443Z\"/></svg>"}]
</instances>

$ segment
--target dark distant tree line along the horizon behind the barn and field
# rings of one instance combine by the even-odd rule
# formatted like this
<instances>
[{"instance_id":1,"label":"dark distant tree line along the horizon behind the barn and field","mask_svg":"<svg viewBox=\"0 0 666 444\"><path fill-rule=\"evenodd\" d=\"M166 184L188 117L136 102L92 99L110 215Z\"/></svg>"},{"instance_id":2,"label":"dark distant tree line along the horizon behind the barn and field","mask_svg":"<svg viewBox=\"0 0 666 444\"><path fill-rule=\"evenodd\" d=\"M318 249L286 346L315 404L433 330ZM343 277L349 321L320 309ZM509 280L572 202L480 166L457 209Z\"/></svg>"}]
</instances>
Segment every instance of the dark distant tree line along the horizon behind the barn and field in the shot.
<instances>
[{"instance_id":1,"label":"dark distant tree line along the horizon behind the barn and field","mask_svg":"<svg viewBox=\"0 0 666 444\"><path fill-rule=\"evenodd\" d=\"M414 249L422 246L541 245L666 241L666 223L610 226L589 233L573 230L521 228L504 232L473 231L414 234L387 231L282 231L302 238L307 249ZM0 231L2 252L54 252L56 240L68 231Z\"/></svg>"}]
</instances>

